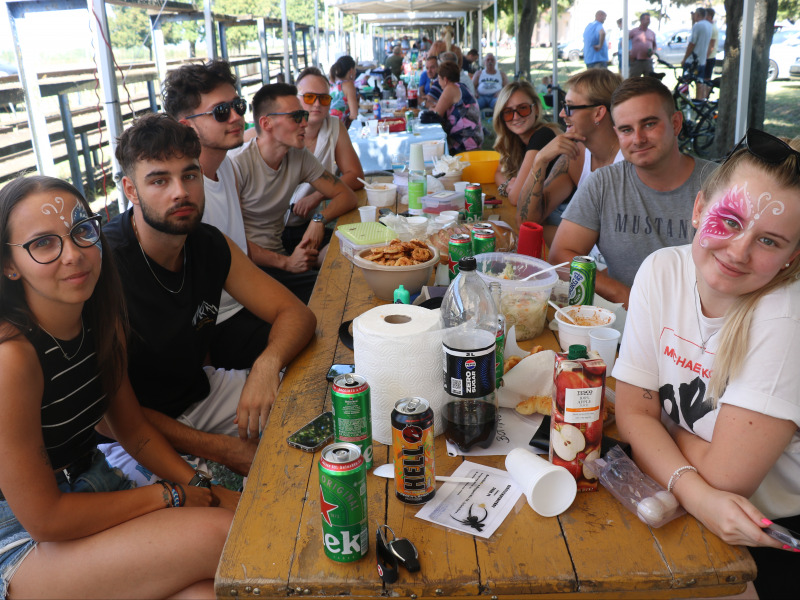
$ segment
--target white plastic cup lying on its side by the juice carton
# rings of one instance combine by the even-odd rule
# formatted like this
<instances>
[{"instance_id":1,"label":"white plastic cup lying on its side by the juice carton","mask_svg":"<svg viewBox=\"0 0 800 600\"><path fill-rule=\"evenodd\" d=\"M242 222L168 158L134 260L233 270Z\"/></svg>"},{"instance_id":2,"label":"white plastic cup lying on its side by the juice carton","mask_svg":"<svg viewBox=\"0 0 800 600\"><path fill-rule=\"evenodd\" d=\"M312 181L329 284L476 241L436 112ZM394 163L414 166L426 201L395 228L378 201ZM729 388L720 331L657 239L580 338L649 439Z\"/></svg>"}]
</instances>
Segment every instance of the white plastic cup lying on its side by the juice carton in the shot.
<instances>
[{"instance_id":1,"label":"white plastic cup lying on its side by the juice carton","mask_svg":"<svg viewBox=\"0 0 800 600\"><path fill-rule=\"evenodd\" d=\"M569 471L525 448L514 448L508 453L506 470L530 507L543 517L563 513L578 493L578 483Z\"/></svg>"}]
</instances>

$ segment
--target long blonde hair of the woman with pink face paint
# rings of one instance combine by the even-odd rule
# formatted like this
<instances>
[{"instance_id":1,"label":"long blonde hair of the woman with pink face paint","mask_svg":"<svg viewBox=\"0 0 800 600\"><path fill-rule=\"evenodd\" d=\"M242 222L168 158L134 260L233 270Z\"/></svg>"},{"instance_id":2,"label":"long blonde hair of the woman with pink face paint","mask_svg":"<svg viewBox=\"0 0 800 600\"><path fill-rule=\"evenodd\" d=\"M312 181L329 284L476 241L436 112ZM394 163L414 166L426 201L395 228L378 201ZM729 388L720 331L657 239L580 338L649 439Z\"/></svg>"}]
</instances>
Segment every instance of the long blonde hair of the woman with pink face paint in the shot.
<instances>
[{"instance_id":1,"label":"long blonde hair of the woman with pink face paint","mask_svg":"<svg viewBox=\"0 0 800 600\"><path fill-rule=\"evenodd\" d=\"M782 138L793 149L800 151L800 136L789 140ZM742 165L749 164L761 169L777 185L800 191L800 157L790 156L780 163L767 163L750 154L747 149L739 150L709 176L702 187L703 197L708 202L714 193L723 189L734 172ZM781 269L764 287L749 294L739 296L725 313L719 337L719 349L714 357L714 369L708 383L708 394L714 407L725 393L728 382L736 377L744 364L749 351L747 340L750 337L750 324L758 303L767 294L800 279L800 259L793 260ZM744 343L742 343L744 341Z\"/></svg>"}]
</instances>

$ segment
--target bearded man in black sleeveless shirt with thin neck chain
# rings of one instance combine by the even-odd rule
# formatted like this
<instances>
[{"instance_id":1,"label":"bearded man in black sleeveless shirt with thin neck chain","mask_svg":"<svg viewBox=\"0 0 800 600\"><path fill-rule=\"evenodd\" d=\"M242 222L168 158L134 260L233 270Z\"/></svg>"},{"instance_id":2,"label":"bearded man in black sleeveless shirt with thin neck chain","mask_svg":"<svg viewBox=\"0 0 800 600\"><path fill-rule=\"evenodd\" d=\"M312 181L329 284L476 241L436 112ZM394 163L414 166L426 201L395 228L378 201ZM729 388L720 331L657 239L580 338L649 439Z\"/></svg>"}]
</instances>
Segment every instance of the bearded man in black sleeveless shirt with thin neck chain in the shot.
<instances>
[{"instance_id":1,"label":"bearded man in black sleeveless shirt with thin neck chain","mask_svg":"<svg viewBox=\"0 0 800 600\"><path fill-rule=\"evenodd\" d=\"M128 372L147 418L177 450L247 474L280 371L311 339L316 319L234 242L201 223L200 154L195 131L172 117L137 120L116 151L133 206L104 231L130 318ZM271 324L249 375L203 366L223 289ZM117 444L101 449L112 466L148 482L150 473Z\"/></svg>"}]
</instances>

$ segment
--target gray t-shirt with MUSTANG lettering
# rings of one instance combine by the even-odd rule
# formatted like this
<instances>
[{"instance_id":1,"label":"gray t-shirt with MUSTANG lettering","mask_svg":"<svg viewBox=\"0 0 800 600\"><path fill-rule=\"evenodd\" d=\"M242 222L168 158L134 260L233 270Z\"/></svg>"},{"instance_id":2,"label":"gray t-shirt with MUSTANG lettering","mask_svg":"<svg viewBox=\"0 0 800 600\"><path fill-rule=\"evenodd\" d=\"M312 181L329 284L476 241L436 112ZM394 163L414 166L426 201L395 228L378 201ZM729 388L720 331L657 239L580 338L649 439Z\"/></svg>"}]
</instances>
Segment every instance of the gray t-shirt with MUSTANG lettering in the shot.
<instances>
[{"instance_id":1,"label":"gray t-shirt with MUSTANG lettering","mask_svg":"<svg viewBox=\"0 0 800 600\"><path fill-rule=\"evenodd\" d=\"M717 165L694 159L694 170L669 192L647 187L628 161L597 169L577 189L563 219L597 231L608 274L628 287L647 256L692 241L692 207Z\"/></svg>"}]
</instances>

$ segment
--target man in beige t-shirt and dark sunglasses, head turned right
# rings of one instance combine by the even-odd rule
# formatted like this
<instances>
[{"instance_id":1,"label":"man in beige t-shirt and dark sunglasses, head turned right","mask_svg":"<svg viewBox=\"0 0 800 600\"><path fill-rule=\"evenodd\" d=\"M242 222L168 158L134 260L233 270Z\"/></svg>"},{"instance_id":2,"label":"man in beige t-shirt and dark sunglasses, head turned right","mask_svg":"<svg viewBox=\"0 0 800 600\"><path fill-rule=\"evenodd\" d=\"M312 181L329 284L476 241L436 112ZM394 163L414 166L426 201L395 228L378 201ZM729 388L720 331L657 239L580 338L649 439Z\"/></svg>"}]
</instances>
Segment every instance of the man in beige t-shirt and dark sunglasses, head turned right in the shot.
<instances>
[{"instance_id":1,"label":"man in beige t-shirt and dark sunglasses, head turned right","mask_svg":"<svg viewBox=\"0 0 800 600\"><path fill-rule=\"evenodd\" d=\"M305 147L308 112L297 88L265 85L253 97L256 137L232 152L241 185L241 206L250 257L269 275L308 303L314 283L325 224L354 209L358 200L344 182L325 170ZM326 198L313 215L303 239L290 253L281 241L284 216L301 183Z\"/></svg>"}]
</instances>

